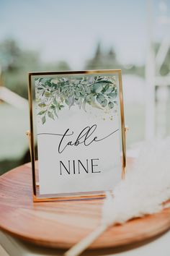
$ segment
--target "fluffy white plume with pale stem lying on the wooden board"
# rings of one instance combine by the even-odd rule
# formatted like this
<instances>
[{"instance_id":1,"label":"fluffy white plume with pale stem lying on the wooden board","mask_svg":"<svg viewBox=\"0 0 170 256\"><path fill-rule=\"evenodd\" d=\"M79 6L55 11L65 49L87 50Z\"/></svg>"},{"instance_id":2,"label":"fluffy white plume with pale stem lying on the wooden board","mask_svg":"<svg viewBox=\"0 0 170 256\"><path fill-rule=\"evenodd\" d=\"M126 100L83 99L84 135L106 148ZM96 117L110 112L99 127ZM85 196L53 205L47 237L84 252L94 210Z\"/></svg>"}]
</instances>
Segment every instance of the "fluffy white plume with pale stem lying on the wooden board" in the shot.
<instances>
[{"instance_id":1,"label":"fluffy white plume with pale stem lying on the wooden board","mask_svg":"<svg viewBox=\"0 0 170 256\"><path fill-rule=\"evenodd\" d=\"M163 204L170 199L169 153L170 138L146 144L125 179L113 189L114 197L107 193L101 225L65 256L80 255L109 226L170 207Z\"/></svg>"}]
</instances>

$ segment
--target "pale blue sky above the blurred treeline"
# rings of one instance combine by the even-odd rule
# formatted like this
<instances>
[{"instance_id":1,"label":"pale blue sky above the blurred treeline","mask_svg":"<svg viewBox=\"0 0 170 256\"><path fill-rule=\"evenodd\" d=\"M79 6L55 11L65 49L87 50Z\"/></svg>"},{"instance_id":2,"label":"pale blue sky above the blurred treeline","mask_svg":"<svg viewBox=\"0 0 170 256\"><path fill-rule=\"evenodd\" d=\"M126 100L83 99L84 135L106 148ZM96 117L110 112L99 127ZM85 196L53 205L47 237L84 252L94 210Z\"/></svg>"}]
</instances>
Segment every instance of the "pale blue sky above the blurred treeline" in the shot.
<instances>
[{"instance_id":1,"label":"pale blue sky above the blurred treeline","mask_svg":"<svg viewBox=\"0 0 170 256\"><path fill-rule=\"evenodd\" d=\"M158 7L153 0L156 17L165 12L164 4ZM164 30L154 22L159 40ZM144 64L147 0L0 0L0 42L5 38L40 51L43 61L66 60L73 69L94 56L99 41L104 51L113 47L123 64Z\"/></svg>"}]
</instances>

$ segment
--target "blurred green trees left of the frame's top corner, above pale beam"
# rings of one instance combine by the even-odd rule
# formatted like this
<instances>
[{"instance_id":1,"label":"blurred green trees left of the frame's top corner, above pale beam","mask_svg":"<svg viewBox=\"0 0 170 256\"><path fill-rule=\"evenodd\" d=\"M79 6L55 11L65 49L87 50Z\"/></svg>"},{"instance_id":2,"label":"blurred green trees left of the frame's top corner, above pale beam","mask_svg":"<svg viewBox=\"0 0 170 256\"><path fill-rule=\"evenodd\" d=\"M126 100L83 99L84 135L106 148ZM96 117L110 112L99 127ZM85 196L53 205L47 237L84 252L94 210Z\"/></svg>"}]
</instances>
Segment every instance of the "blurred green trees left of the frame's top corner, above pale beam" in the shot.
<instances>
[{"instance_id":1,"label":"blurred green trees left of the frame's top corner, above pale beam","mask_svg":"<svg viewBox=\"0 0 170 256\"><path fill-rule=\"evenodd\" d=\"M70 69L66 61L43 63L39 52L23 50L12 39L0 43L0 67L6 88L24 98L27 98L27 72Z\"/></svg>"}]
</instances>

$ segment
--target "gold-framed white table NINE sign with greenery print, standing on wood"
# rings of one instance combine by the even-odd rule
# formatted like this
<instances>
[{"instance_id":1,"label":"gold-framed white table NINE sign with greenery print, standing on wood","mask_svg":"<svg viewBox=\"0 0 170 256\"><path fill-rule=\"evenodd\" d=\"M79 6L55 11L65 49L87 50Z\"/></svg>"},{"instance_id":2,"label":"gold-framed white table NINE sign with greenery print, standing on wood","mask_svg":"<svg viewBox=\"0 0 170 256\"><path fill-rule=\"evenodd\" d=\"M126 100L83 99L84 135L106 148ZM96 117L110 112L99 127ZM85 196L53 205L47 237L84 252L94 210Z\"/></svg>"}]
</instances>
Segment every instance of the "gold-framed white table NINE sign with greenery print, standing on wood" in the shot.
<instances>
[{"instance_id":1,"label":"gold-framed white table NINE sign with greenery print, standing on wood","mask_svg":"<svg viewBox=\"0 0 170 256\"><path fill-rule=\"evenodd\" d=\"M29 73L29 103L34 201L113 189L125 173L121 70Z\"/></svg>"}]
</instances>

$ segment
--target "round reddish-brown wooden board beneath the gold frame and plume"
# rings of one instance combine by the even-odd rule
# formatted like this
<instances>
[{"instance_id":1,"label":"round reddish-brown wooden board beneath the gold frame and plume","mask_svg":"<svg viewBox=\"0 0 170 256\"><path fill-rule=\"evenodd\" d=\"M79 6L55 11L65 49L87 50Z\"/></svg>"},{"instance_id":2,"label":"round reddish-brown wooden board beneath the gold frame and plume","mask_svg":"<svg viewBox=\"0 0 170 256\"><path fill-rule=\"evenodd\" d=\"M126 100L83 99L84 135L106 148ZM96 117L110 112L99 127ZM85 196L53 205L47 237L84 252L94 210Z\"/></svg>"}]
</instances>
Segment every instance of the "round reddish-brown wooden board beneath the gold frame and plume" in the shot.
<instances>
[{"instance_id":1,"label":"round reddish-brown wooden board beneath the gold frame and plume","mask_svg":"<svg viewBox=\"0 0 170 256\"><path fill-rule=\"evenodd\" d=\"M32 202L30 164L0 177L0 228L28 242L68 248L98 225L103 199L61 202ZM93 248L117 247L150 239L170 228L170 208L102 234Z\"/></svg>"}]
</instances>

